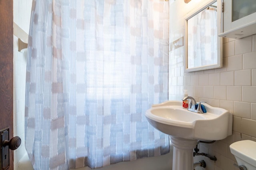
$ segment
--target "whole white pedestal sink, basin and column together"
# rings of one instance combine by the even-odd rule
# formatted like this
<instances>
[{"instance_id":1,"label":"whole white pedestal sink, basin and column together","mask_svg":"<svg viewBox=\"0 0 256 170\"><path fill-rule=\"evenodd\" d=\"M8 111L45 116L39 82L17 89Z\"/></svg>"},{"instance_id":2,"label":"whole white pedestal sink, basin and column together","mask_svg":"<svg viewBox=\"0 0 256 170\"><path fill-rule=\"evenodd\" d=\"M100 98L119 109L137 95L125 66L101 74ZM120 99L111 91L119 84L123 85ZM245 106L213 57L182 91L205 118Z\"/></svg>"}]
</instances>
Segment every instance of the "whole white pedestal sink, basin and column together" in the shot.
<instances>
[{"instance_id":1,"label":"whole white pedestal sink, basin and column together","mask_svg":"<svg viewBox=\"0 0 256 170\"><path fill-rule=\"evenodd\" d=\"M153 105L145 113L156 129L171 135L172 170L193 169L193 149L198 140L216 141L232 135L232 114L222 108L204 104L207 113L182 108L182 101Z\"/></svg>"}]
</instances>

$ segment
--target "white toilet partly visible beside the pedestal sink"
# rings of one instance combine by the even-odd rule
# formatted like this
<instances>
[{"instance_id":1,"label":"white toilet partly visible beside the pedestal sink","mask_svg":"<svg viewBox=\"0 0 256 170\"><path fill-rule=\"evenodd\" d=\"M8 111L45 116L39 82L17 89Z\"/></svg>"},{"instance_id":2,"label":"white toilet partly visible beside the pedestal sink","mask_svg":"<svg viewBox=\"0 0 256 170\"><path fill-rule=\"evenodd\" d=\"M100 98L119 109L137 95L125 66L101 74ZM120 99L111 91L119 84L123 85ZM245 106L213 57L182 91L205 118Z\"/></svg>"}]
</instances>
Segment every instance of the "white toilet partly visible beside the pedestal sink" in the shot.
<instances>
[{"instance_id":1,"label":"white toilet partly visible beside the pedestal sink","mask_svg":"<svg viewBox=\"0 0 256 170\"><path fill-rule=\"evenodd\" d=\"M238 166L244 165L247 170L256 170L256 142L245 140L232 143L230 151L234 154Z\"/></svg>"}]
</instances>

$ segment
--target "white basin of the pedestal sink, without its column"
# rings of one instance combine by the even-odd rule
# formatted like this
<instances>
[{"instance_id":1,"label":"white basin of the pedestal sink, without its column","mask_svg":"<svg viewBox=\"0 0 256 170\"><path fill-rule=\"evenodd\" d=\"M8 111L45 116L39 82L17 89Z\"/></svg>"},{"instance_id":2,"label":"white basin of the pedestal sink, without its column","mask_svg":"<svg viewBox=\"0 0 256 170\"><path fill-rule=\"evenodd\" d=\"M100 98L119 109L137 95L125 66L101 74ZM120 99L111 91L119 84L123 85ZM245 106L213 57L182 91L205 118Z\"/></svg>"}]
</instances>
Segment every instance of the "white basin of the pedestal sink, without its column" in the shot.
<instances>
[{"instance_id":1,"label":"white basin of the pedestal sink, without its column","mask_svg":"<svg viewBox=\"0 0 256 170\"><path fill-rule=\"evenodd\" d=\"M207 113L182 108L181 101L153 105L146 118L156 129L168 135L192 140L216 141L232 135L232 114L204 103Z\"/></svg>"}]
</instances>

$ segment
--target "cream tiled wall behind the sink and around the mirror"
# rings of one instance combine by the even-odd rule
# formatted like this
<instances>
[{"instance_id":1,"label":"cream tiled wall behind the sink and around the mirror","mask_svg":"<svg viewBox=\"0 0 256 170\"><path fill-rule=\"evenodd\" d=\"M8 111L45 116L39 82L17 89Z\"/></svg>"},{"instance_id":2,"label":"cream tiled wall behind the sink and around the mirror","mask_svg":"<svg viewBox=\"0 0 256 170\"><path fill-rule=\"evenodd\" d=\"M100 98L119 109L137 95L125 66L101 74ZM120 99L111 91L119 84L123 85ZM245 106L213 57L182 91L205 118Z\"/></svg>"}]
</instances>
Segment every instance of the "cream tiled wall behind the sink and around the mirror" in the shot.
<instances>
[{"instance_id":1,"label":"cream tiled wall behind the sink and around the mirror","mask_svg":"<svg viewBox=\"0 0 256 170\"><path fill-rule=\"evenodd\" d=\"M170 42L184 37L184 16L204 0L170 3ZM200 152L215 155L214 162L203 156L205 170L238 170L229 145L235 141L256 141L256 35L223 39L223 67L184 72L184 46L169 52L169 99L181 100L183 89L197 101L222 107L233 113L233 135L214 144L201 145ZM214 127L213 127L214 128Z\"/></svg>"}]
</instances>

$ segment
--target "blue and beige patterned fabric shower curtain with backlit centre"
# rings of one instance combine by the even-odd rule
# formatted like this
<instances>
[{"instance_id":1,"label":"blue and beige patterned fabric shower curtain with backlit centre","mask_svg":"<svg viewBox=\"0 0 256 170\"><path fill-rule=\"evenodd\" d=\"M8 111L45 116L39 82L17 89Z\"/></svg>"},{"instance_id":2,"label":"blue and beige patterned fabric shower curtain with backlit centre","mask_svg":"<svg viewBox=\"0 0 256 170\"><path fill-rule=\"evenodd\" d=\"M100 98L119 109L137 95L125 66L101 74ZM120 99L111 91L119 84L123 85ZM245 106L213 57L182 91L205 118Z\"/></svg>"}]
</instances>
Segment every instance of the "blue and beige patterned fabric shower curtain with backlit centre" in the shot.
<instances>
[{"instance_id":1,"label":"blue and beige patterned fabric shower curtain with backlit centre","mask_svg":"<svg viewBox=\"0 0 256 170\"><path fill-rule=\"evenodd\" d=\"M168 2L33 0L25 147L35 170L169 152L144 113L168 99Z\"/></svg>"}]
</instances>

